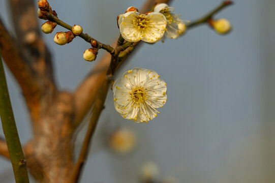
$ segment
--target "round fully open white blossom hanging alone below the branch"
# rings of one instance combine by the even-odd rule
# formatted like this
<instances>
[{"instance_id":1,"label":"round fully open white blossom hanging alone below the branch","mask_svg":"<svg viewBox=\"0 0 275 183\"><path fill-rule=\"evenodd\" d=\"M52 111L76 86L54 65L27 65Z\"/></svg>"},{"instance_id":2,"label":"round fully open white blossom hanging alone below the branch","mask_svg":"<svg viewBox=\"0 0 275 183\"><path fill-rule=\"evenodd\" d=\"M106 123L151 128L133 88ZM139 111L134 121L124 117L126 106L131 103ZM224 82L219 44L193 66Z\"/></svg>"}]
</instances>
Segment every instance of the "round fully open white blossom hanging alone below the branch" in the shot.
<instances>
[{"instance_id":1,"label":"round fully open white blossom hanging alone below the branch","mask_svg":"<svg viewBox=\"0 0 275 183\"><path fill-rule=\"evenodd\" d=\"M148 122L167 101L166 83L152 70L134 68L113 84L114 107L126 119Z\"/></svg>"}]
</instances>

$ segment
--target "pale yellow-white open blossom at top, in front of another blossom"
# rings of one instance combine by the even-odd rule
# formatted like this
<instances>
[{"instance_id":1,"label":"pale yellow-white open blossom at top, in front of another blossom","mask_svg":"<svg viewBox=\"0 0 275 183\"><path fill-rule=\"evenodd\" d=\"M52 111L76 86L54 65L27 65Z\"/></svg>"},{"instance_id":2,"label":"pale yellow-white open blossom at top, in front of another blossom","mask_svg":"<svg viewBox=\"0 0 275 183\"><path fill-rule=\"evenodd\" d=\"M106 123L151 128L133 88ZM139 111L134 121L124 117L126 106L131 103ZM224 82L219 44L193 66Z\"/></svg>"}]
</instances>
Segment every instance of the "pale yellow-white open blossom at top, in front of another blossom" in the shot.
<instances>
[{"instance_id":1,"label":"pale yellow-white open blossom at top, in front of another blossom","mask_svg":"<svg viewBox=\"0 0 275 183\"><path fill-rule=\"evenodd\" d=\"M145 41L155 43L165 32L166 18L158 12L140 14L136 11L119 16L118 26L121 36L129 42Z\"/></svg>"}]
</instances>

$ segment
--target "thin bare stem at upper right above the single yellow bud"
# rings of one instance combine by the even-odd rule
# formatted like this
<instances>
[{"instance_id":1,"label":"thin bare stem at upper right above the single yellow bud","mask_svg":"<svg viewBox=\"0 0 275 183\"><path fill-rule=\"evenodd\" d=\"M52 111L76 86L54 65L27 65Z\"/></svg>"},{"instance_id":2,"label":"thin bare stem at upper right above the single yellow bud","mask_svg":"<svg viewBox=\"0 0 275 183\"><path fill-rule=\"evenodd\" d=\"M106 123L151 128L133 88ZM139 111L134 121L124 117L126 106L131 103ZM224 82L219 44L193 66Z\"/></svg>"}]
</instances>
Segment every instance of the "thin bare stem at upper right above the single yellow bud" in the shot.
<instances>
[{"instance_id":1,"label":"thin bare stem at upper right above the single yellow bud","mask_svg":"<svg viewBox=\"0 0 275 183\"><path fill-rule=\"evenodd\" d=\"M195 21L187 24L186 26L188 28L191 28L191 27L199 25L201 23L206 23L208 20L210 20L212 18L213 15L215 15L216 13L218 13L219 11L221 11L222 9L227 7L228 5L232 5L232 4L233 4L233 2L231 2L231 1L225 1L221 5L219 5L217 8L215 8L214 10L212 10L211 12L209 12L208 14L203 16L202 18L200 18L198 20L195 20Z\"/></svg>"}]
</instances>

